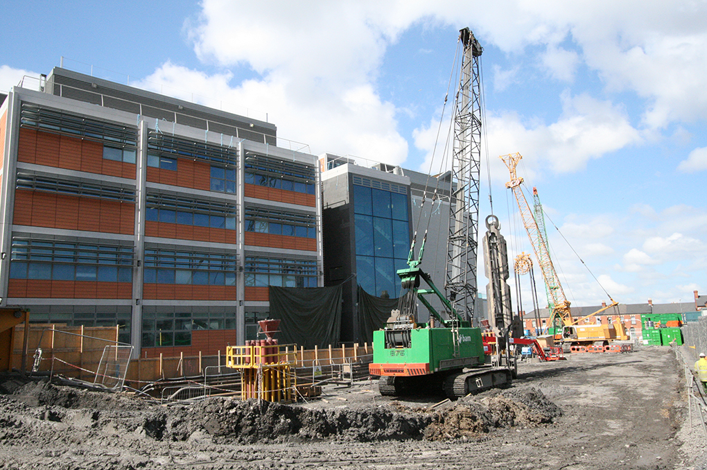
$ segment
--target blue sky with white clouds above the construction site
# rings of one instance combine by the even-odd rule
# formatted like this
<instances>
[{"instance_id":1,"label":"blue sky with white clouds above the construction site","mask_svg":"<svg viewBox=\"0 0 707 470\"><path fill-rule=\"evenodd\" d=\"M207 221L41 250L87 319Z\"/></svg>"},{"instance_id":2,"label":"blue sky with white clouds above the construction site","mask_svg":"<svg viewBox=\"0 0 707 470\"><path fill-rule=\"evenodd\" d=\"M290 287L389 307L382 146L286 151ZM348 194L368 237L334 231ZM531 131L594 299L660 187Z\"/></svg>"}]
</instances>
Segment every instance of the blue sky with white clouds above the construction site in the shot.
<instances>
[{"instance_id":1,"label":"blue sky with white clouds above the construction site","mask_svg":"<svg viewBox=\"0 0 707 470\"><path fill-rule=\"evenodd\" d=\"M4 6L0 90L64 64L267 120L281 146L424 173L444 169L435 142L469 27L484 47L479 240L493 211L509 259L532 252L498 158L518 152L572 305L707 294L704 0ZM544 304L537 264L535 278ZM530 289L522 276L524 310Z\"/></svg>"}]
</instances>

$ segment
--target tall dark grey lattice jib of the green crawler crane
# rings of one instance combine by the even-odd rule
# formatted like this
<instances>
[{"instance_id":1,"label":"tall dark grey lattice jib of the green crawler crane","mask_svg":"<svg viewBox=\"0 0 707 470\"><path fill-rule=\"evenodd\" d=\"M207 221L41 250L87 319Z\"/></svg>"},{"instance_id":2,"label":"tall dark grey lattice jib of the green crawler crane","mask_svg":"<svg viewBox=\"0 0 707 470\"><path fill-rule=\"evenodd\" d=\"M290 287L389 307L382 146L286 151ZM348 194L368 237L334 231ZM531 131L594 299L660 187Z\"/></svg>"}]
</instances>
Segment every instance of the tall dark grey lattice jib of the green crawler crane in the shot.
<instances>
[{"instance_id":1,"label":"tall dark grey lattice jib of the green crawler crane","mask_svg":"<svg viewBox=\"0 0 707 470\"><path fill-rule=\"evenodd\" d=\"M464 47L457 90L450 191L445 289L464 319L474 317L477 298L477 233L481 168L481 84L479 57L483 49L469 28L460 31Z\"/></svg>"}]
</instances>

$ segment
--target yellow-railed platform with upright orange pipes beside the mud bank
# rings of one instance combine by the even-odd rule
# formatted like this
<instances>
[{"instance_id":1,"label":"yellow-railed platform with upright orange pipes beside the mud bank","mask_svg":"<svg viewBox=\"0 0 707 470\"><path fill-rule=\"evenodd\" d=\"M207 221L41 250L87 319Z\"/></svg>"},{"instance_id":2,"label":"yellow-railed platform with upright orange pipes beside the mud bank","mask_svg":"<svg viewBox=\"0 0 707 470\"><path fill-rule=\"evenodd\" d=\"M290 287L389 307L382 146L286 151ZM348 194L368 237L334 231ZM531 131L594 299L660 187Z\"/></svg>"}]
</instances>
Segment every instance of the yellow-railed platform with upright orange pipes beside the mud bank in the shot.
<instances>
[{"instance_id":1,"label":"yellow-railed platform with upright orange pipes beside the mud bank","mask_svg":"<svg viewBox=\"0 0 707 470\"><path fill-rule=\"evenodd\" d=\"M268 319L258 323L267 339L246 341L245 346L228 346L226 367L241 372L241 399L294 401L297 379L292 369L296 365L297 348L293 344L278 344L272 338L279 320Z\"/></svg>"}]
</instances>

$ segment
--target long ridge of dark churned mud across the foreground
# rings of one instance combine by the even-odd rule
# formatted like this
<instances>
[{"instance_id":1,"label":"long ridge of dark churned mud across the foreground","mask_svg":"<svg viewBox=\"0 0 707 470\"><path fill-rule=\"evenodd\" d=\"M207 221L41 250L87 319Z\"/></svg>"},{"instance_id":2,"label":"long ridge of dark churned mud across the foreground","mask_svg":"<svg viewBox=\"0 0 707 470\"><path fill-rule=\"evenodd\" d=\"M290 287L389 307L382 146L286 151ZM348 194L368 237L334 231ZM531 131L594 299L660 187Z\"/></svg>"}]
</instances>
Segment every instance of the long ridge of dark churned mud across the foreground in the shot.
<instances>
[{"instance_id":1,"label":"long ridge of dark churned mud across the foreground","mask_svg":"<svg viewBox=\"0 0 707 470\"><path fill-rule=\"evenodd\" d=\"M214 444L455 440L479 437L493 428L551 423L561 416L559 408L533 388L469 396L443 411L375 404L311 409L221 397L159 406L48 382L10 388L12 394L0 396L4 442L52 438L71 444L89 433L106 440L127 435L171 442L206 438Z\"/></svg>"}]
</instances>

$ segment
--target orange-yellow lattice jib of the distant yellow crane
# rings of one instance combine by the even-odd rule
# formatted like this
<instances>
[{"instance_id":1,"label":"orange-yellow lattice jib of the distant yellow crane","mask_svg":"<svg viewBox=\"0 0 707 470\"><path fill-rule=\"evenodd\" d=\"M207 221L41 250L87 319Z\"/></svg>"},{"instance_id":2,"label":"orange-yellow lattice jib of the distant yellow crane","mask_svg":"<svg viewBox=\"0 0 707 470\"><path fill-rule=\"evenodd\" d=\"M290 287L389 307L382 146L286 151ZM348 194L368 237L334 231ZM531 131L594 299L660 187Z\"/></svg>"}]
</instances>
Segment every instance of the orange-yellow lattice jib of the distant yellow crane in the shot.
<instances>
[{"instance_id":1,"label":"orange-yellow lattice jib of the distant yellow crane","mask_svg":"<svg viewBox=\"0 0 707 470\"><path fill-rule=\"evenodd\" d=\"M520 153L511 153L509 155L501 155L501 160L506 164L508 170L510 171L510 181L506 183L506 187L513 190L513 195L515 196L515 201L518 203L518 209L520 210L520 218L522 218L523 225L527 231L528 238L530 238L530 245L535 252L535 257L537 257L538 264L540 265L540 270L542 271L542 276L545 280L545 285L547 286L551 301L554 304L554 309L550 316L548 324L552 324L555 317L559 317L563 325L572 324L572 315L570 312L570 302L568 302L565 297L564 290L560 284L560 279L557 276L557 271L555 266L552 264L550 259L550 252L547 249L547 244L545 243L543 237L541 236L540 229L533 217L530 206L525 199L525 194L523 194L520 184L522 184L523 179L518 177L515 173L515 167L522 156Z\"/></svg>"}]
</instances>

